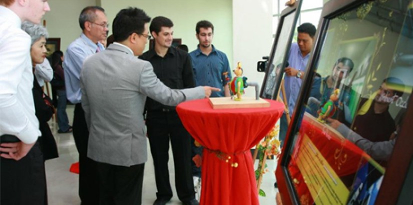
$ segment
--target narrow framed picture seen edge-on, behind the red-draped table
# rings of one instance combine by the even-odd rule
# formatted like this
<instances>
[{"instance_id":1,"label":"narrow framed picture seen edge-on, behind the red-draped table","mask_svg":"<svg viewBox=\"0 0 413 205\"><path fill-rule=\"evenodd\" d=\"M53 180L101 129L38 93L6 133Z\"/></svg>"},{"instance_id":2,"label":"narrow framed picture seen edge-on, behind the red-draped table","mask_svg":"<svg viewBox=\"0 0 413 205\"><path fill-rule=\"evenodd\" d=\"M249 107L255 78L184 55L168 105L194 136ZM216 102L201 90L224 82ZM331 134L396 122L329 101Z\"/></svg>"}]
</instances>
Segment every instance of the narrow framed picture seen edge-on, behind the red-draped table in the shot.
<instances>
[{"instance_id":1,"label":"narrow framed picture seen edge-on, behind the red-draped table","mask_svg":"<svg viewBox=\"0 0 413 205\"><path fill-rule=\"evenodd\" d=\"M281 12L274 43L265 68L264 81L260 92L260 97L262 98L276 99L278 96L282 74L288 64L288 53L295 25L297 24L301 2L302 0L296 1Z\"/></svg>"}]
</instances>

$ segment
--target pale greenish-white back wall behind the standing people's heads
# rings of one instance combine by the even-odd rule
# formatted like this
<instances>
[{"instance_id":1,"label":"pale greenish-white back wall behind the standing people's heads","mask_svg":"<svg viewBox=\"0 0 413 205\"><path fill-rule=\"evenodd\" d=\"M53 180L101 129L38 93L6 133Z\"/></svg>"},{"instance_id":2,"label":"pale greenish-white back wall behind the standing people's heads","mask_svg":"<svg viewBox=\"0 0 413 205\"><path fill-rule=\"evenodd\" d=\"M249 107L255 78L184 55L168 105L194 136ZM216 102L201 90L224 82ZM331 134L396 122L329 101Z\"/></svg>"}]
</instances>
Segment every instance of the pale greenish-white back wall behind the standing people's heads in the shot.
<instances>
[{"instance_id":1,"label":"pale greenish-white back wall behind the standing people's heads","mask_svg":"<svg viewBox=\"0 0 413 205\"><path fill-rule=\"evenodd\" d=\"M152 18L158 15L169 17L175 24L174 37L182 38L190 51L196 48L195 24L207 19L214 24L213 44L227 53L232 61L232 0L52 0L49 1L51 11L44 19L50 37L61 37L61 50L79 37L79 14L88 5L100 5L105 8L108 21L112 24L116 13L128 6L139 7ZM112 33L112 26L109 34ZM148 46L147 46L148 47Z\"/></svg>"}]
</instances>

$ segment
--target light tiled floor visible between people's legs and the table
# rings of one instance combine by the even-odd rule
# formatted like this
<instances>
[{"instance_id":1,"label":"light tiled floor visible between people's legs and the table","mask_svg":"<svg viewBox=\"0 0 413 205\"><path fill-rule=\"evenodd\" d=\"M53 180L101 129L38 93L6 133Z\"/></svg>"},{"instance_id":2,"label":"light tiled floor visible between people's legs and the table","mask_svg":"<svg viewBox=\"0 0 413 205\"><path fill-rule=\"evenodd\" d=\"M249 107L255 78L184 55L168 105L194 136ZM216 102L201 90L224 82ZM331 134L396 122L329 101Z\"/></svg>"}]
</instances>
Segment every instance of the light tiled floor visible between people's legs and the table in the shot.
<instances>
[{"instance_id":1,"label":"light tiled floor visible between people's legs and the table","mask_svg":"<svg viewBox=\"0 0 413 205\"><path fill-rule=\"evenodd\" d=\"M73 105L68 105L67 109L69 119L73 118ZM72 163L78 161L78 152L73 140L72 133L57 133L57 123L50 122L52 131L55 135L58 144L60 156L55 159L46 161L46 175L48 184L48 198L50 205L72 205L80 204L78 195L78 174L69 172L69 167ZM149 144L148 144L149 147ZM169 154L169 170L171 178L171 186L175 186L174 165L172 153ZM256 161L257 163L257 161ZM267 165L270 171L264 174L261 188L267 196L260 196L260 204L275 204L275 194L278 189L274 188L273 184L275 177L273 170L275 165L273 160L267 160ZM143 199L142 204L151 205L156 199L155 174L152 163L151 154L148 148L148 161L145 163L144 183L143 183ZM174 188L173 188L174 190ZM182 204L174 190L174 197L168 205Z\"/></svg>"}]
</instances>

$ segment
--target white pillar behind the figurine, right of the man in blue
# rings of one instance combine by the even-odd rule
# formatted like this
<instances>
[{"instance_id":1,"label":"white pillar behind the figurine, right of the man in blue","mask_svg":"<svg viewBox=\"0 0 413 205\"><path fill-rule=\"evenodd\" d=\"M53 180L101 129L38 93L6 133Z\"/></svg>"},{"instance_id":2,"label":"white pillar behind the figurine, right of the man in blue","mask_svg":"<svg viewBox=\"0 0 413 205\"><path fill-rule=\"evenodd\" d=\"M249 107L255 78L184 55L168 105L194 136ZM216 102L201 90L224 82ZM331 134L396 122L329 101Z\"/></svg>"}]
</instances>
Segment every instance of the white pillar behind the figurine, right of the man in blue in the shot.
<instances>
[{"instance_id":1,"label":"white pillar behind the figurine, right of the man in blue","mask_svg":"<svg viewBox=\"0 0 413 205\"><path fill-rule=\"evenodd\" d=\"M272 1L233 0L234 61L240 61L249 82L260 85L263 72L257 72L257 61L268 56L272 46ZM246 96L255 96L254 89L245 89Z\"/></svg>"}]
</instances>

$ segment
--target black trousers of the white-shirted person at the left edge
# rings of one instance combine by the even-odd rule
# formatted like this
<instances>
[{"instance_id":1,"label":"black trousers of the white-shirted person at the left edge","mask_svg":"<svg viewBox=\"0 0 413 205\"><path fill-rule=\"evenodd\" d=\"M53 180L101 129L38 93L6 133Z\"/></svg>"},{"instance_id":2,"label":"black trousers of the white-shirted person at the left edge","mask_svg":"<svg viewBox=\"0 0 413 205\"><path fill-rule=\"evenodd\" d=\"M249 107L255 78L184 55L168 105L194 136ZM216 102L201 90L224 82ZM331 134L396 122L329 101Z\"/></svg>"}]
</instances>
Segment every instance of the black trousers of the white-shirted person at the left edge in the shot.
<instances>
[{"instance_id":1,"label":"black trousers of the white-shirted person at the left edge","mask_svg":"<svg viewBox=\"0 0 413 205\"><path fill-rule=\"evenodd\" d=\"M0 157L0 204L47 204L43 153L36 142L22 159Z\"/></svg>"}]
</instances>

